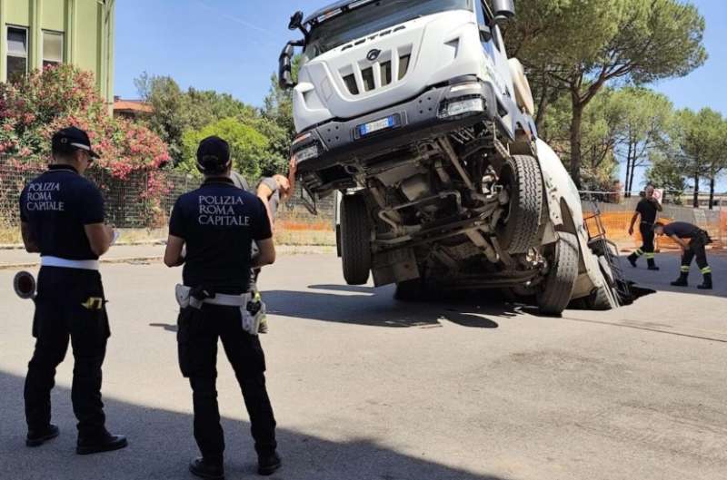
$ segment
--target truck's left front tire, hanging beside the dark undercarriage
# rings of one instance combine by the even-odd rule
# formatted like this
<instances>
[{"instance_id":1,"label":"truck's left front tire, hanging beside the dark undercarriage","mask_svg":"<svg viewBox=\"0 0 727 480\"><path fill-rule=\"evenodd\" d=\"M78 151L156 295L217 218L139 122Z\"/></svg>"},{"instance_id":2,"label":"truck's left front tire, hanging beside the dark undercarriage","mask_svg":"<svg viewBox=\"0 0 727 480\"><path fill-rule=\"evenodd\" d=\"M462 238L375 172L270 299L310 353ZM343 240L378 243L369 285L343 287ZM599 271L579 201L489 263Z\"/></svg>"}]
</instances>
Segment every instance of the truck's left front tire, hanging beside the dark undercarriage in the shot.
<instances>
[{"instance_id":1,"label":"truck's left front tire, hanging beside the dark undercarriage","mask_svg":"<svg viewBox=\"0 0 727 480\"><path fill-rule=\"evenodd\" d=\"M366 201L346 195L341 201L341 260L349 285L364 285L371 272L371 227Z\"/></svg>"}]
</instances>

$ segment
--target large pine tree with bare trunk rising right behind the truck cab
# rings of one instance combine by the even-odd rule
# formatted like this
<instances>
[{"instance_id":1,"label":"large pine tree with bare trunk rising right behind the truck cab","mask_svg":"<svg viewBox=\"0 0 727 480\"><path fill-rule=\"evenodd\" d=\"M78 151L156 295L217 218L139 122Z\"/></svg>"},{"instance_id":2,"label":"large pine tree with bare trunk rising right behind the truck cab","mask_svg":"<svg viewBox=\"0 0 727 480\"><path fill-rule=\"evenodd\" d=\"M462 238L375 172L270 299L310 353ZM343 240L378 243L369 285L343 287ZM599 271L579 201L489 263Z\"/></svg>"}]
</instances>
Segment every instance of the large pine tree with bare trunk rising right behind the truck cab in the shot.
<instances>
[{"instance_id":1,"label":"large pine tree with bare trunk rising right behind the truck cab","mask_svg":"<svg viewBox=\"0 0 727 480\"><path fill-rule=\"evenodd\" d=\"M528 0L507 28L511 56L533 77L539 122L553 99L571 102L573 180L583 166L583 111L609 84L683 76L706 60L704 18L678 0Z\"/></svg>"}]
</instances>

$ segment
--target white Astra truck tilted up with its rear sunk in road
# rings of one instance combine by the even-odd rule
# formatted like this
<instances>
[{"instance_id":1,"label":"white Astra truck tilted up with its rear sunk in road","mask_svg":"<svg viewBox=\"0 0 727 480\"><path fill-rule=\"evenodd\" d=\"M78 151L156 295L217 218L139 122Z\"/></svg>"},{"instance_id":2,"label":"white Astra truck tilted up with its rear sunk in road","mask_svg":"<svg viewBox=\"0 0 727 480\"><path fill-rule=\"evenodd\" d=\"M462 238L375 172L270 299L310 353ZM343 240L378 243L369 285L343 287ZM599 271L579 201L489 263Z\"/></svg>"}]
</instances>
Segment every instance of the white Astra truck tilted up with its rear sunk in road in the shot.
<instances>
[{"instance_id":1,"label":"white Astra truck tilted up with its rear sunk in road","mask_svg":"<svg viewBox=\"0 0 727 480\"><path fill-rule=\"evenodd\" d=\"M340 196L344 278L507 289L545 314L618 306L612 256L538 139L533 95L500 25L513 0L344 0L289 24L280 56L304 197ZM301 47L297 83L295 47Z\"/></svg>"}]
</instances>

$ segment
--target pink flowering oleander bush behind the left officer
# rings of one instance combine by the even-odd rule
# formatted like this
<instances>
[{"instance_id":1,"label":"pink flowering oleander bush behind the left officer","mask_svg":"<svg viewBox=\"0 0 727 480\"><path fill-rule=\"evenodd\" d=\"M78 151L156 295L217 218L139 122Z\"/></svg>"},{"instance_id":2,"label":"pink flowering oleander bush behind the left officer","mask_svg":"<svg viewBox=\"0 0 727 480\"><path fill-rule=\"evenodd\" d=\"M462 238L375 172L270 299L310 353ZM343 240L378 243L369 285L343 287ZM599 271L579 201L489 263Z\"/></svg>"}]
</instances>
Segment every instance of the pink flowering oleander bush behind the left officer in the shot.
<instances>
[{"instance_id":1,"label":"pink flowering oleander bush behind the left officer","mask_svg":"<svg viewBox=\"0 0 727 480\"><path fill-rule=\"evenodd\" d=\"M148 171L144 199L153 204L169 191L157 174L170 159L166 144L142 124L113 118L96 91L93 73L72 65L50 66L16 83L0 83L0 158L14 170L44 166L53 133L72 125L88 132L101 155L95 168L120 180Z\"/></svg>"}]
</instances>

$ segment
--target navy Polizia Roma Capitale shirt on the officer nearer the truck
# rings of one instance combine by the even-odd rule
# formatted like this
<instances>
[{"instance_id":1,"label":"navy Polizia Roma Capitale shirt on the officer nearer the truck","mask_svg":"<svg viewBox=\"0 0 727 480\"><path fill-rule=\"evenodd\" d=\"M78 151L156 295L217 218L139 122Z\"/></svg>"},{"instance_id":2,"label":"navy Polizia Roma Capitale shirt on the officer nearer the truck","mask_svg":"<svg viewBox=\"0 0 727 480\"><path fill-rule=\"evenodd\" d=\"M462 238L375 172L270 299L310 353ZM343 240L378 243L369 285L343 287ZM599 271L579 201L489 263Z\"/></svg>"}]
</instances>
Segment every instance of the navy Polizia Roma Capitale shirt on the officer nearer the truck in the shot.
<instances>
[{"instance_id":1,"label":"navy Polizia Roma Capitale shirt on the officer nearer the truck","mask_svg":"<svg viewBox=\"0 0 727 480\"><path fill-rule=\"evenodd\" d=\"M184 285L238 295L250 282L253 240L273 236L263 201L228 178L204 181L179 197L169 234L184 239Z\"/></svg>"}]
</instances>

